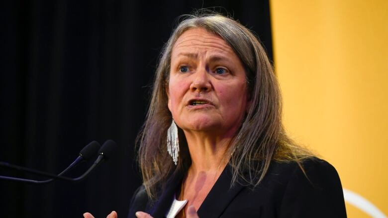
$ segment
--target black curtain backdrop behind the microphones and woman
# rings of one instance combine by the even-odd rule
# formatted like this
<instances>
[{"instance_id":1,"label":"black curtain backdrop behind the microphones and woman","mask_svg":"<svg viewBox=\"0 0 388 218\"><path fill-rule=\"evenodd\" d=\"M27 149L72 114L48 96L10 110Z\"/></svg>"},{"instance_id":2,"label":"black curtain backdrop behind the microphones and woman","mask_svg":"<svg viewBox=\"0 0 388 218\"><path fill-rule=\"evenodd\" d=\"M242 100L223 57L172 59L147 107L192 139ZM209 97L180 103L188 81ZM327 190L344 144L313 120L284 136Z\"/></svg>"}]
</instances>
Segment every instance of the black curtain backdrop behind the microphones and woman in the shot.
<instances>
[{"instance_id":1,"label":"black curtain backdrop behind the microphones and woman","mask_svg":"<svg viewBox=\"0 0 388 218\"><path fill-rule=\"evenodd\" d=\"M80 149L114 140L118 152L86 180L0 181L0 217L127 216L141 177L135 138L159 52L177 16L222 6L254 30L272 58L268 0L5 1L1 7L0 161L59 173ZM92 161L93 162L93 161ZM78 176L91 162L69 175ZM0 168L1 175L42 177Z\"/></svg>"}]
</instances>

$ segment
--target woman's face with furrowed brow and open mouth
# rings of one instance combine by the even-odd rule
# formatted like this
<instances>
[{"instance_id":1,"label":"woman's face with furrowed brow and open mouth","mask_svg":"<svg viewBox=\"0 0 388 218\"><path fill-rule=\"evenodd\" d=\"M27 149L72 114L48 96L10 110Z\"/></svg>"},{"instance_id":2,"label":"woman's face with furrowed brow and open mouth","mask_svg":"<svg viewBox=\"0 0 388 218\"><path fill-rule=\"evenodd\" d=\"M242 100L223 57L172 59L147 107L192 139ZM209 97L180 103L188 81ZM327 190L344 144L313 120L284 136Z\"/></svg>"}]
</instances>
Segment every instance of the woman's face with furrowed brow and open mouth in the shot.
<instances>
[{"instance_id":1,"label":"woman's face with furrowed brow and open mouth","mask_svg":"<svg viewBox=\"0 0 388 218\"><path fill-rule=\"evenodd\" d=\"M174 44L168 107L185 132L233 136L246 113L246 83L240 59L220 36L194 28Z\"/></svg>"}]
</instances>

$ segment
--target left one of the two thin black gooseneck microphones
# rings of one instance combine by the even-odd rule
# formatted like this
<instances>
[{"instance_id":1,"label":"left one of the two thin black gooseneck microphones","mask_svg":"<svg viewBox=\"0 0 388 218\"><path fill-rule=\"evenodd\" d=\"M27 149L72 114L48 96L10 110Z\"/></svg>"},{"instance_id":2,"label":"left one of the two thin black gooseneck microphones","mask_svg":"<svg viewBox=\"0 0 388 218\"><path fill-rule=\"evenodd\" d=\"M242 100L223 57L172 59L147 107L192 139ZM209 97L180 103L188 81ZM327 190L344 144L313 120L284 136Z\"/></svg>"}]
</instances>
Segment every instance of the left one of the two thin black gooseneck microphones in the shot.
<instances>
[{"instance_id":1,"label":"left one of the two thin black gooseneck microphones","mask_svg":"<svg viewBox=\"0 0 388 218\"><path fill-rule=\"evenodd\" d=\"M38 180L23 179L23 178L16 178L16 177L9 177L9 176L1 176L0 175L0 179L11 180L11 181L18 181L18 182L26 182L26 183L34 183L34 184L46 184L46 183L54 181L54 179L56 179L56 178L61 177L61 175L65 174L66 172L71 170L74 166L76 166L81 161L88 160L88 159L92 158L96 154L97 149L99 147L100 147L100 145L96 141L93 141L93 142L89 143L88 145L86 145L80 151L79 156L65 170L63 170L58 175L55 175L55 174L52 174L52 173L47 173L47 172L42 172L42 171L39 171L39 170L35 170L35 169L23 167L23 166L17 166L17 165L14 165L14 164L10 164L10 163L7 163L7 162L1 162L0 161L0 166L3 166L3 167L8 167L8 168L11 168L11 169L16 169L16 170L25 171L25 172L29 172L29 173L33 173L33 174L37 174L37 175L42 175L42 176L47 176L47 177L51 177L52 178L52 179L48 179L48 180L38 181ZM63 177L62 179L68 180L68 178L66 178L66 177Z\"/></svg>"}]
</instances>

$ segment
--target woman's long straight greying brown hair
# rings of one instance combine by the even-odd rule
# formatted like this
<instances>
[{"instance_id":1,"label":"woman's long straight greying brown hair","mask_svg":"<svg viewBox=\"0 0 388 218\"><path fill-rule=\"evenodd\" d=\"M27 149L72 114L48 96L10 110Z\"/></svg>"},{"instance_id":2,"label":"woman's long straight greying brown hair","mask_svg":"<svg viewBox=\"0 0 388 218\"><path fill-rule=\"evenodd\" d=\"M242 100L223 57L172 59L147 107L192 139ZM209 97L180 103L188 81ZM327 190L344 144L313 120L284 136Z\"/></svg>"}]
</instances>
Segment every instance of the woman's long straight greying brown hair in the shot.
<instances>
[{"instance_id":1,"label":"woman's long straight greying brown hair","mask_svg":"<svg viewBox=\"0 0 388 218\"><path fill-rule=\"evenodd\" d=\"M138 136L139 164L144 186L151 198L171 173L186 171L191 164L185 136L180 130L180 154L175 166L167 152L167 129L172 115L167 107L171 52L188 29L204 28L217 34L234 50L246 71L251 104L225 156L236 182L255 187L265 176L271 160L300 161L312 154L296 145L282 125L282 98L277 77L257 37L239 22L214 12L185 15L165 44L156 70L152 98L144 126Z\"/></svg>"}]
</instances>

